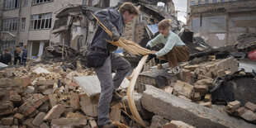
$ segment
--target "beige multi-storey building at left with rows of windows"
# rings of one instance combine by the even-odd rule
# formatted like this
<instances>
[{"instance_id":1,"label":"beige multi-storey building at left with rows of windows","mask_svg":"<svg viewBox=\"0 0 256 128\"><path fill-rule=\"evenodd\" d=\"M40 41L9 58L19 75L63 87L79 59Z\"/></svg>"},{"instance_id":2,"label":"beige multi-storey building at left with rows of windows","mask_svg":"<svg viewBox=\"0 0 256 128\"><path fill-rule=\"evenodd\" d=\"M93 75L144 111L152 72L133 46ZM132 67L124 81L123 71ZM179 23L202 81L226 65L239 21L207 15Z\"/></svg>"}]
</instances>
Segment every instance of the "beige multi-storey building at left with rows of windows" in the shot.
<instances>
[{"instance_id":1,"label":"beige multi-storey building at left with rows of windows","mask_svg":"<svg viewBox=\"0 0 256 128\"><path fill-rule=\"evenodd\" d=\"M50 41L55 15L60 9L83 0L2 0L0 1L2 48L27 45L29 56L40 56Z\"/></svg>"}]
</instances>

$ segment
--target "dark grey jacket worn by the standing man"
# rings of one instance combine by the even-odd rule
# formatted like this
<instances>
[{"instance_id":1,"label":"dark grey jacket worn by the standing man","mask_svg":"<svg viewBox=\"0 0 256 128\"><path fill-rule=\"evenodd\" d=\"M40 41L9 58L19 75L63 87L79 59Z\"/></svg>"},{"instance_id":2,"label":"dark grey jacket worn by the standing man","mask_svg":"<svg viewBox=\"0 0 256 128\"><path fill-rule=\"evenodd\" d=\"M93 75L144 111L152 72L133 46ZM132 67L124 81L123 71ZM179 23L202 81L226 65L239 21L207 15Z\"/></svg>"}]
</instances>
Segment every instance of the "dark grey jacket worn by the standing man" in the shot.
<instances>
[{"instance_id":1,"label":"dark grey jacket worn by the standing man","mask_svg":"<svg viewBox=\"0 0 256 128\"><path fill-rule=\"evenodd\" d=\"M116 27L116 30L120 33L123 33L124 24L123 17L120 12L116 9L103 9L101 11L95 12L95 16L109 29ZM106 40L111 40L111 37L102 30L101 26L97 26L97 30L92 38L92 44L90 49L99 47L103 50L107 50L107 47L111 45ZM112 45L111 45L112 46ZM117 47L116 47L117 48Z\"/></svg>"}]
</instances>

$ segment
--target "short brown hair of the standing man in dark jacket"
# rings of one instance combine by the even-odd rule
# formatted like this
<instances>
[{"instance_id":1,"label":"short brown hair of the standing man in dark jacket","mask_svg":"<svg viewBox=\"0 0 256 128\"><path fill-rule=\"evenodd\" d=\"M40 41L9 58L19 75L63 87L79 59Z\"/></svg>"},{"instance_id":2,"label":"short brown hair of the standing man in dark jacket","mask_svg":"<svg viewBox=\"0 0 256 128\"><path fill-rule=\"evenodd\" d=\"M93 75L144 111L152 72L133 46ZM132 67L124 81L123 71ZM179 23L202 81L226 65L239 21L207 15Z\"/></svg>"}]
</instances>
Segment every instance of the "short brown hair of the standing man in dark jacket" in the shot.
<instances>
[{"instance_id":1,"label":"short brown hair of the standing man in dark jacket","mask_svg":"<svg viewBox=\"0 0 256 128\"><path fill-rule=\"evenodd\" d=\"M139 15L139 9L130 2L123 3L118 11L121 12L121 14L128 11L130 14L135 14L135 16Z\"/></svg>"}]
</instances>

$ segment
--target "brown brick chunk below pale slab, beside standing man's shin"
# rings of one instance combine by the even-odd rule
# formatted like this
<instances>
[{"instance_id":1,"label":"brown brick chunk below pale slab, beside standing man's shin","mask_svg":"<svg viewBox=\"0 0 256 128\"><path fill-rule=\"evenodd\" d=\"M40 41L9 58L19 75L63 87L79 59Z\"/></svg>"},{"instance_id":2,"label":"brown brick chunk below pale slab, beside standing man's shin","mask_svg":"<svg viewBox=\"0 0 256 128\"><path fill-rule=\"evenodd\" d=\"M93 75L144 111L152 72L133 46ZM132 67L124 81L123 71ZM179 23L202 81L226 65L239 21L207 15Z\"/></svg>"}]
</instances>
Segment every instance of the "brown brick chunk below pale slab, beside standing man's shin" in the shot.
<instances>
[{"instance_id":1,"label":"brown brick chunk below pale slab, beside standing man's shin","mask_svg":"<svg viewBox=\"0 0 256 128\"><path fill-rule=\"evenodd\" d=\"M87 116L97 116L97 104L92 104L90 97L86 95L80 96L80 109Z\"/></svg>"}]
</instances>

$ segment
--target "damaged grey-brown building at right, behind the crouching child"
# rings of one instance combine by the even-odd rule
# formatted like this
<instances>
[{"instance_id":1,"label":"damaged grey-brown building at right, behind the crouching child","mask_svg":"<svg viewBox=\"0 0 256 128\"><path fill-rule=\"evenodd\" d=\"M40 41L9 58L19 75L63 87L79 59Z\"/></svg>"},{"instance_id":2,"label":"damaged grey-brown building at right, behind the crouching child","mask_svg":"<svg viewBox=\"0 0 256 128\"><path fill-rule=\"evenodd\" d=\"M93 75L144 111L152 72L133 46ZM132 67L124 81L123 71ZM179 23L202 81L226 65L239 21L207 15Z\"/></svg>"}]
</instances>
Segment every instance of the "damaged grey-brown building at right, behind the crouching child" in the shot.
<instances>
[{"instance_id":1,"label":"damaged grey-brown building at right, behind the crouching child","mask_svg":"<svg viewBox=\"0 0 256 128\"><path fill-rule=\"evenodd\" d=\"M233 45L237 36L256 32L256 1L187 1L187 26L211 46Z\"/></svg>"}]
</instances>

